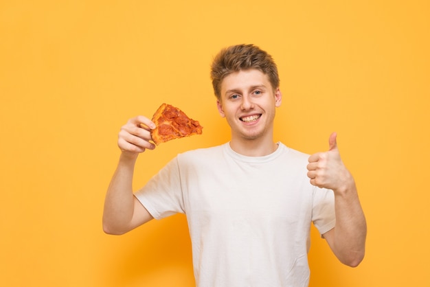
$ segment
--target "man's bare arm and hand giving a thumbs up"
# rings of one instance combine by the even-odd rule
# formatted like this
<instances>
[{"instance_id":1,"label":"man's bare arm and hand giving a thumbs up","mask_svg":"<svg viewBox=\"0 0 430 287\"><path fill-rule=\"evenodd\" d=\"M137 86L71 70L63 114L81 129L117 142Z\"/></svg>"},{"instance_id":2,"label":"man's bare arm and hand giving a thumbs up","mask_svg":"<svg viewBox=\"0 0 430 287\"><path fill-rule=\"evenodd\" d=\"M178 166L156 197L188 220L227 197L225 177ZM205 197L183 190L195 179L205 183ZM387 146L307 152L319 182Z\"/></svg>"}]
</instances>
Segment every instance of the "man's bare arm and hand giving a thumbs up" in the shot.
<instances>
[{"instance_id":1,"label":"man's bare arm and hand giving a thumbs up","mask_svg":"<svg viewBox=\"0 0 430 287\"><path fill-rule=\"evenodd\" d=\"M348 266L358 266L365 253L367 226L352 174L343 165L336 133L329 139L330 150L309 157L310 183L335 193L335 228L324 233L330 249Z\"/></svg>"}]
</instances>

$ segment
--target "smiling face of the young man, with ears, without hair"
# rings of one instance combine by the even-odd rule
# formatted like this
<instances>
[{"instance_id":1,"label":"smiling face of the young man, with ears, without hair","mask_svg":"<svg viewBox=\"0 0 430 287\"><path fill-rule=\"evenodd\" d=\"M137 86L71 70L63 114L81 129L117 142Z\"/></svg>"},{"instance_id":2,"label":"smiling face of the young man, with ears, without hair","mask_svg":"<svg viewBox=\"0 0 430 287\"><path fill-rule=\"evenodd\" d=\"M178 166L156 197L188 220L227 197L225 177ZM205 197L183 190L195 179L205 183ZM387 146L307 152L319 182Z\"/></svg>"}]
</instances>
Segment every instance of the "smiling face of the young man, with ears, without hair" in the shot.
<instances>
[{"instance_id":1,"label":"smiling face of the young man, with ears, without hair","mask_svg":"<svg viewBox=\"0 0 430 287\"><path fill-rule=\"evenodd\" d=\"M258 139L273 136L275 108L281 100L280 90L273 90L267 75L249 69L224 78L217 104L231 127L231 139Z\"/></svg>"}]
</instances>

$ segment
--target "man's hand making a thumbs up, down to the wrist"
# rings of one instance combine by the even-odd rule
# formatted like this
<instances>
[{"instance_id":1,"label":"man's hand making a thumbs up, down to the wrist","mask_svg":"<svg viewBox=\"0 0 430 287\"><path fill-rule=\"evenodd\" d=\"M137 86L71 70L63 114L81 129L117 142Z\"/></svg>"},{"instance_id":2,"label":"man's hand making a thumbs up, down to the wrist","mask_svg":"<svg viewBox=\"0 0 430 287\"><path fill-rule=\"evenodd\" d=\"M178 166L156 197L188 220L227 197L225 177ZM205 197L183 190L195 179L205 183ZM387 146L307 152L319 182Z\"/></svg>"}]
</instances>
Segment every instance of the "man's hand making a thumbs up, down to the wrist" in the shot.
<instances>
[{"instance_id":1,"label":"man's hand making a thumbs up, down to the wrist","mask_svg":"<svg viewBox=\"0 0 430 287\"><path fill-rule=\"evenodd\" d=\"M308 161L310 184L341 192L354 185L354 179L341 160L336 141L337 133L328 139L328 151L312 154Z\"/></svg>"}]
</instances>

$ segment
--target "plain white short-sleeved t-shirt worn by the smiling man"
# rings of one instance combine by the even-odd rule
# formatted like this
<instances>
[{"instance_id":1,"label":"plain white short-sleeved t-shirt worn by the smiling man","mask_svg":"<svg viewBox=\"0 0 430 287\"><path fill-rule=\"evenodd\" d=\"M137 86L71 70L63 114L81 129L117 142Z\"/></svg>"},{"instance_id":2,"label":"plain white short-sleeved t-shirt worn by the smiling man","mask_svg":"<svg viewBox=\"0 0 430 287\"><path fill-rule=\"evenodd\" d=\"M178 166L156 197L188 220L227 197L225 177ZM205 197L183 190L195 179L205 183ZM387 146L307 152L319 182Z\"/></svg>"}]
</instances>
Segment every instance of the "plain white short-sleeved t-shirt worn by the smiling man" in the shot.
<instances>
[{"instance_id":1,"label":"plain white short-sleeved t-shirt worn by the smiling man","mask_svg":"<svg viewBox=\"0 0 430 287\"><path fill-rule=\"evenodd\" d=\"M135 194L156 219L186 214L197 286L308 286L310 224L335 227L334 194L310 185L307 154L278 145L178 154Z\"/></svg>"}]
</instances>

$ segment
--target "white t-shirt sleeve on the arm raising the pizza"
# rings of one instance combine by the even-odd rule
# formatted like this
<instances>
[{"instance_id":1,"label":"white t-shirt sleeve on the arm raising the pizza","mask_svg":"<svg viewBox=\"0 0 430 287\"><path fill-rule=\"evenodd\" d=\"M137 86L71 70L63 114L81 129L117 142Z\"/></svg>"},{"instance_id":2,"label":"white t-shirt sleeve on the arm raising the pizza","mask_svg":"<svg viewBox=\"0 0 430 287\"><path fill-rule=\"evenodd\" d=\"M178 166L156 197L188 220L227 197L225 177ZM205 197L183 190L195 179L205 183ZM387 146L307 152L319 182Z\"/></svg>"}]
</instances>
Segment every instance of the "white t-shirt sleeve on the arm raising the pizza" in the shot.
<instances>
[{"instance_id":1,"label":"white t-shirt sleeve on the arm raising the pizza","mask_svg":"<svg viewBox=\"0 0 430 287\"><path fill-rule=\"evenodd\" d=\"M152 176L135 196L155 219L184 213L177 157Z\"/></svg>"}]
</instances>

